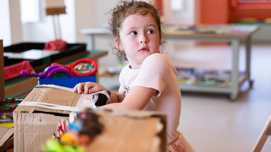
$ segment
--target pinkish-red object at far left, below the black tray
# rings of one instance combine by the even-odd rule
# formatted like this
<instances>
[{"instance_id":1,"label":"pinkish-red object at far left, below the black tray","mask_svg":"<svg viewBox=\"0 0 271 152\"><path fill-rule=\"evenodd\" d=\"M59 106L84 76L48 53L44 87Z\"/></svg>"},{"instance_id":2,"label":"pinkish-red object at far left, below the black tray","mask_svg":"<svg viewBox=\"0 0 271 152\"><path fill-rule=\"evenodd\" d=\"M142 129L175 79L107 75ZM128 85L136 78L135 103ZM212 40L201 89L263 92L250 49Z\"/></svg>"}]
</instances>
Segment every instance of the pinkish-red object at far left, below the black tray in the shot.
<instances>
[{"instance_id":1,"label":"pinkish-red object at far left, below the black tray","mask_svg":"<svg viewBox=\"0 0 271 152\"><path fill-rule=\"evenodd\" d=\"M33 67L28 60L4 67L4 79L8 80L20 75L21 70L31 71Z\"/></svg>"}]
</instances>

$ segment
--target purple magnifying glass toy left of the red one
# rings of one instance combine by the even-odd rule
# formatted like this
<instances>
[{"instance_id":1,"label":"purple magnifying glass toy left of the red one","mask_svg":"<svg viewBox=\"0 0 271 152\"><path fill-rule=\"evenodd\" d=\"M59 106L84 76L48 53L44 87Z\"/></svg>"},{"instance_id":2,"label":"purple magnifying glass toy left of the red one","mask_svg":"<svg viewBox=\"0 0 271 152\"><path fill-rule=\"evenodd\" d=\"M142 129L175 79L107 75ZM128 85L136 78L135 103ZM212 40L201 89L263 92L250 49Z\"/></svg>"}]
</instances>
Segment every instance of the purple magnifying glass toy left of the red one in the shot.
<instances>
[{"instance_id":1,"label":"purple magnifying glass toy left of the red one","mask_svg":"<svg viewBox=\"0 0 271 152\"><path fill-rule=\"evenodd\" d=\"M51 65L45 68L43 72L37 74L27 70L22 70L20 75L23 77L39 77L39 78L60 78L60 77L73 77L73 74L66 68L60 65Z\"/></svg>"}]
</instances>

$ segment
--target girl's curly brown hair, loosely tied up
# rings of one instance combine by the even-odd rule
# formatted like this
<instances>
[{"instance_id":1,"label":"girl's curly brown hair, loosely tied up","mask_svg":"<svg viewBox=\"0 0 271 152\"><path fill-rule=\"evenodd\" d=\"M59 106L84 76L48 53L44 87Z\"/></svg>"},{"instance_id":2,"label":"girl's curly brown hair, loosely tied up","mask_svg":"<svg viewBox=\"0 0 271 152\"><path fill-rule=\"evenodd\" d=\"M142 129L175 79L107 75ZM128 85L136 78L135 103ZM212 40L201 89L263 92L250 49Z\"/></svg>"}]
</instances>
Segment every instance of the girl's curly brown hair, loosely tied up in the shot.
<instances>
[{"instance_id":1,"label":"girl's curly brown hair, loosely tied up","mask_svg":"<svg viewBox=\"0 0 271 152\"><path fill-rule=\"evenodd\" d=\"M113 38L120 39L120 28L122 27L122 22L129 15L139 13L143 16L151 14L158 25L159 35L163 35L161 32L161 20L159 16L159 10L155 5L143 1L119 1L119 3L110 11L112 17L109 20L110 31L112 32ZM108 12L108 13L110 13ZM161 41L163 45L165 41ZM158 51L160 53L160 51ZM128 61L125 51L120 51L118 48L113 47L112 53L117 55L120 61Z\"/></svg>"}]
</instances>

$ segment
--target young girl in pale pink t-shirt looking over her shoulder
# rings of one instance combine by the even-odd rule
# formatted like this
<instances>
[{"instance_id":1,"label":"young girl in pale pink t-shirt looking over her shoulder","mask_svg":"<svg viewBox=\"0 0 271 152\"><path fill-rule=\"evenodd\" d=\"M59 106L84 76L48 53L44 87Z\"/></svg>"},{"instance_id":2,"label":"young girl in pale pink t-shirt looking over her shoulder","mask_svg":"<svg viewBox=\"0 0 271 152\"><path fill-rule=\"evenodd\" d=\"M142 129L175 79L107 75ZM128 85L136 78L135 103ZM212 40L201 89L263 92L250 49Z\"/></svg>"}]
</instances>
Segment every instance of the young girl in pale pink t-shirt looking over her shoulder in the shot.
<instances>
[{"instance_id":1,"label":"young girl in pale pink t-shirt looking over her shoulder","mask_svg":"<svg viewBox=\"0 0 271 152\"><path fill-rule=\"evenodd\" d=\"M120 73L118 93L111 93L106 109L136 109L167 114L167 145L171 151L194 151L177 131L181 113L181 92L177 70L165 54L159 53L161 21L159 9L142 1L120 1L109 21L115 37L117 55L128 60ZM84 91L83 91L84 90ZM107 91L104 86L86 82L74 92Z\"/></svg>"}]
</instances>

